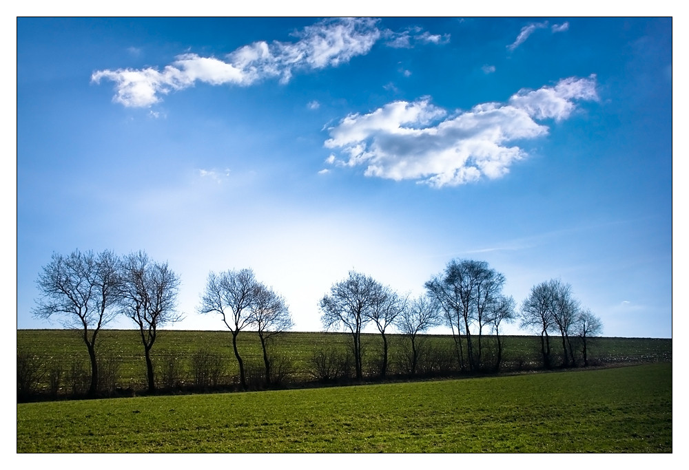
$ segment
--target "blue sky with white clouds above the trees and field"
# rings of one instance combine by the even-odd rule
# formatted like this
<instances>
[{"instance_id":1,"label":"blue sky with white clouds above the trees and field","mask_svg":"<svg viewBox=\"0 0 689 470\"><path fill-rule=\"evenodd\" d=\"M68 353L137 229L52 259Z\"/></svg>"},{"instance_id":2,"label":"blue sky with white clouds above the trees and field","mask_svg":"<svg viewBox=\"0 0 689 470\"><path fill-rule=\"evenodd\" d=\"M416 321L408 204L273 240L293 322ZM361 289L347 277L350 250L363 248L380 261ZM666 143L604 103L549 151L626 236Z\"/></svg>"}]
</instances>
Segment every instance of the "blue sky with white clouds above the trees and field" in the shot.
<instances>
[{"instance_id":1,"label":"blue sky with white clouds above the trees and field","mask_svg":"<svg viewBox=\"0 0 689 470\"><path fill-rule=\"evenodd\" d=\"M349 270L469 258L672 337L672 20L18 19L17 328L75 248L167 260L178 329L225 328L210 270L309 331Z\"/></svg>"}]
</instances>

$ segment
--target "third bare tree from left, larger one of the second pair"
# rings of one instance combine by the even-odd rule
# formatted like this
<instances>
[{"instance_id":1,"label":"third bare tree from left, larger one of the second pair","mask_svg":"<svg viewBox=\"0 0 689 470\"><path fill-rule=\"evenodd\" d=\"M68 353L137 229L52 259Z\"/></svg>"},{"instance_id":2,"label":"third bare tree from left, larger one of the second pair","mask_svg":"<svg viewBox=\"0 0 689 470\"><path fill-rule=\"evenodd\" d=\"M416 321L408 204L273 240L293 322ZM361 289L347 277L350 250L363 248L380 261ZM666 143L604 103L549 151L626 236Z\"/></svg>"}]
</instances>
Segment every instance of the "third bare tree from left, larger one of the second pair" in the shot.
<instances>
[{"instance_id":1,"label":"third bare tree from left, larger one of the second pair","mask_svg":"<svg viewBox=\"0 0 689 470\"><path fill-rule=\"evenodd\" d=\"M247 389L244 361L237 349L240 331L254 323L251 305L254 302L256 276L251 269L229 270L223 273L209 273L205 291L201 295L200 313L218 313L223 323L232 332L232 348L239 365L239 378L243 389Z\"/></svg>"}]
</instances>

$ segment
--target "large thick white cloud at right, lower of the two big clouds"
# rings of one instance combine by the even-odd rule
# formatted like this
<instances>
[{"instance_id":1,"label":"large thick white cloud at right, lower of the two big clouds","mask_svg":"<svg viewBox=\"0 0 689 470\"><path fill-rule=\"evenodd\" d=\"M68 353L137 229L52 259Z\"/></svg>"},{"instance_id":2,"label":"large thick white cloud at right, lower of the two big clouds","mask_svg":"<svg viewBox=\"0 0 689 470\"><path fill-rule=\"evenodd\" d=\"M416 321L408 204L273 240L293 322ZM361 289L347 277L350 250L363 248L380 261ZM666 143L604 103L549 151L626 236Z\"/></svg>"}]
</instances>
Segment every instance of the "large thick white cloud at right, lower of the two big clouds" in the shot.
<instances>
[{"instance_id":1,"label":"large thick white cloud at right, lower of the two big clouds","mask_svg":"<svg viewBox=\"0 0 689 470\"><path fill-rule=\"evenodd\" d=\"M575 100L597 100L595 76L566 78L553 87L522 89L506 103L482 103L449 114L429 97L395 101L369 114L350 114L328 129L325 147L340 167L366 167L364 175L416 180L434 187L500 178L526 153L515 140L536 138L548 127L536 120L563 120Z\"/></svg>"}]
</instances>

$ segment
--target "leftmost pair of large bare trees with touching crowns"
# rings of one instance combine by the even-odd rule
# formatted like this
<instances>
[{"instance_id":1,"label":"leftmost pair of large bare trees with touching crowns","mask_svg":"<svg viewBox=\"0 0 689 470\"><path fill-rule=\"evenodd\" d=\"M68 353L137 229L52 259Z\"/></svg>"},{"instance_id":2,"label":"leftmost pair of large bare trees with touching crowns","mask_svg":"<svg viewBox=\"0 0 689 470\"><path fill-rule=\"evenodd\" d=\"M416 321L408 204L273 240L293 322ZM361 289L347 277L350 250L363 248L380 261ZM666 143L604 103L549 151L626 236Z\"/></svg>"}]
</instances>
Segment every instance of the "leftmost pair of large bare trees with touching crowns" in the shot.
<instances>
[{"instance_id":1,"label":"leftmost pair of large bare trees with touching crowns","mask_svg":"<svg viewBox=\"0 0 689 470\"><path fill-rule=\"evenodd\" d=\"M37 284L42 296L34 315L45 319L59 315L66 328L81 332L91 365L88 394L95 395L99 389L99 332L119 314L138 328L148 388L155 389L151 349L158 328L181 320L176 312L179 277L167 262L153 261L143 251L120 257L110 250L75 250L66 256L53 254Z\"/></svg>"}]
</instances>

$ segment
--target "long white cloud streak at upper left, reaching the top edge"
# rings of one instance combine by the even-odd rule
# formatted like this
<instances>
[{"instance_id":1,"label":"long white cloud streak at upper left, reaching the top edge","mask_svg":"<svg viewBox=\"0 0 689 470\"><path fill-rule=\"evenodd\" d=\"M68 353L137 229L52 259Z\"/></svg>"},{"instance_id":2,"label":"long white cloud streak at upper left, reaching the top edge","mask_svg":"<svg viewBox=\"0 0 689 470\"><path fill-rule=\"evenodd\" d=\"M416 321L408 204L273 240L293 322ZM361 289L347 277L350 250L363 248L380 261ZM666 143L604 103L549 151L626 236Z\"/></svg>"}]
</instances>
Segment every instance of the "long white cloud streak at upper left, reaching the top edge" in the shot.
<instances>
[{"instance_id":1,"label":"long white cloud streak at upper left, reaching the top edge","mask_svg":"<svg viewBox=\"0 0 689 470\"><path fill-rule=\"evenodd\" d=\"M113 100L127 107L150 107L161 96L194 86L196 82L210 85L249 86L268 78L287 83L300 70L337 67L355 56L368 54L383 36L388 45L398 41L439 44L444 36L429 34L420 28L402 33L381 30L378 19L325 19L294 33L295 42L257 41L239 47L223 58L202 57L187 53L158 70L98 70L91 76L93 83L115 83ZM407 38L407 39L404 39ZM395 45L393 47L402 47Z\"/></svg>"}]
</instances>

